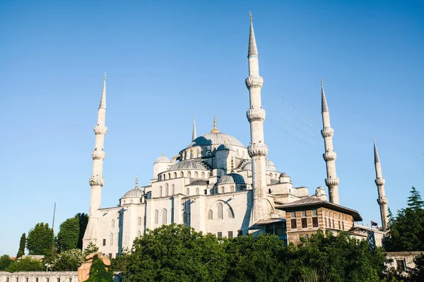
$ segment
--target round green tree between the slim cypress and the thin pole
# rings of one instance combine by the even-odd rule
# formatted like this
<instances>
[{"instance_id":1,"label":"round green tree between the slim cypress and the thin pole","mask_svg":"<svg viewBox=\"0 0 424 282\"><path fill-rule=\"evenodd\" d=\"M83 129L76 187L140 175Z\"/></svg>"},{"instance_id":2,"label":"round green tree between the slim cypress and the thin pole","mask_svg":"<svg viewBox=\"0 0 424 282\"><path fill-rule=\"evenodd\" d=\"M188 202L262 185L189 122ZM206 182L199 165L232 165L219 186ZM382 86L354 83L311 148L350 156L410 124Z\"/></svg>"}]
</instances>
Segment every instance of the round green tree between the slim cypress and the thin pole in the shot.
<instances>
[{"instance_id":1,"label":"round green tree between the slim cypress and the thin pole","mask_svg":"<svg viewBox=\"0 0 424 282\"><path fill-rule=\"evenodd\" d=\"M48 223L37 223L28 232L26 247L29 255L49 255L52 253L54 233Z\"/></svg>"}]
</instances>

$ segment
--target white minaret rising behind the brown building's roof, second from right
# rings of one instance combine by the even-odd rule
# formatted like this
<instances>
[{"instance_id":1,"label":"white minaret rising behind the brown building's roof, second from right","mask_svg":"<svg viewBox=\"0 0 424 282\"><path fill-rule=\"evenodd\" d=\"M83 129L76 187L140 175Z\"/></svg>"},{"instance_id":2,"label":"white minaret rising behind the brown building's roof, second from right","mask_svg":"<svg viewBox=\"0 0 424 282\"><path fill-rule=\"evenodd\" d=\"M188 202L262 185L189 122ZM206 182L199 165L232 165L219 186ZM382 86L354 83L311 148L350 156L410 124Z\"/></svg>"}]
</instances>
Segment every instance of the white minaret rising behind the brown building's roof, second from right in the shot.
<instances>
[{"instance_id":1,"label":"white minaret rising behind the brown building's roof, second from right","mask_svg":"<svg viewBox=\"0 0 424 282\"><path fill-rule=\"evenodd\" d=\"M321 80L321 99L322 99L322 130L321 135L324 138L324 149L325 152L322 154L326 164L326 173L327 178L325 180L325 185L329 188L329 200L334 204L339 204L338 202L338 180L336 175L336 152L333 149L333 134L334 130L330 125L330 112L329 106L326 104L326 98L324 93L324 85L322 85Z\"/></svg>"}]
</instances>

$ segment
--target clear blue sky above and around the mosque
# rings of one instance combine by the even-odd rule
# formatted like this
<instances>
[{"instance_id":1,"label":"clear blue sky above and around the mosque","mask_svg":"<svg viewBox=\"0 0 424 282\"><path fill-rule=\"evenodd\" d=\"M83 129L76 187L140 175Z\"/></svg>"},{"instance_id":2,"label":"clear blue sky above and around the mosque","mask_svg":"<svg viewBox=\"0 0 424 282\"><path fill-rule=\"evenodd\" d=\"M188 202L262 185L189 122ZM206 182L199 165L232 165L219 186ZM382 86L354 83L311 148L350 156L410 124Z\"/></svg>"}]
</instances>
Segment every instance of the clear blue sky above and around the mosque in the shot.
<instances>
[{"instance_id":1,"label":"clear blue sky above and around the mosque","mask_svg":"<svg viewBox=\"0 0 424 282\"><path fill-rule=\"evenodd\" d=\"M105 186L112 207L160 154L218 129L249 144L253 13L269 159L324 186L319 79L334 128L340 202L380 222L375 136L392 211L424 192L422 1L1 1L0 255L37 222L88 213L107 71Z\"/></svg>"}]
</instances>

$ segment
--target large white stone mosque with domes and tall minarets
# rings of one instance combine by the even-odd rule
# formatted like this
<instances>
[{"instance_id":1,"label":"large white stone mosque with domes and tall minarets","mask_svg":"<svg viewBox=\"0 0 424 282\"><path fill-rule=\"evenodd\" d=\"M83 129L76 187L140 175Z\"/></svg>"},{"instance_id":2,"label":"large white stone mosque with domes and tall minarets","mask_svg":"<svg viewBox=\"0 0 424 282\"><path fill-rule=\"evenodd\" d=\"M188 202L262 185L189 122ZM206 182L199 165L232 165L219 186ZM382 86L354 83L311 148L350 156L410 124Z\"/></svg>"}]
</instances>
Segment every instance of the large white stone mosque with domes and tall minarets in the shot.
<instances>
[{"instance_id":1,"label":"large white stone mosque with domes and tall minarets","mask_svg":"<svg viewBox=\"0 0 424 282\"><path fill-rule=\"evenodd\" d=\"M300 243L300 237L308 238L318 229L329 228L347 231L381 245L387 228L387 198L377 147L374 147L375 183L379 193L377 202L382 214L382 231L355 224L362 221L360 214L339 204L339 179L332 140L334 130L322 82L321 134L329 197L322 187L314 190L312 195L306 187L294 187L290 176L278 171L267 158L269 148L264 140L266 112L261 105L264 80L259 75L259 53L252 16L247 58L249 76L245 83L250 101L247 109L251 136L249 146L245 147L235 137L221 133L216 118L211 132L198 137L194 121L189 145L171 159L164 155L158 157L148 185L139 186L136 178L134 189L123 193L117 207L100 206L105 184L102 168L107 133L105 76L98 123L94 128L93 175L89 181L90 213L83 237L84 248L94 243L100 252L115 257L124 247L131 248L134 239L147 229L170 223L191 226L196 231L214 234L218 238L273 233L286 243L295 244Z\"/></svg>"}]
</instances>

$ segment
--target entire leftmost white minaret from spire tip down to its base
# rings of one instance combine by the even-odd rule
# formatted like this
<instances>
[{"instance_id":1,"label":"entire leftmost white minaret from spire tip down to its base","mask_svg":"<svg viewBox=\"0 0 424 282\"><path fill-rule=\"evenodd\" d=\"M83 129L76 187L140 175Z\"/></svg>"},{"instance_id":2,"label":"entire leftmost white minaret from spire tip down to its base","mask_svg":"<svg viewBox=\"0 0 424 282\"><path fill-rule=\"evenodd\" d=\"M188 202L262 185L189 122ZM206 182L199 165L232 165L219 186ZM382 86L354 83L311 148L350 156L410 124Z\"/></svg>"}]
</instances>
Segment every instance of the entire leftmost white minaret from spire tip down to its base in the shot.
<instances>
[{"instance_id":1,"label":"entire leftmost white minaret from spire tip down to its base","mask_svg":"<svg viewBox=\"0 0 424 282\"><path fill-rule=\"evenodd\" d=\"M105 135L107 133L106 122L106 73L103 81L102 97L100 98L100 106L98 109L98 122L94 127L95 145L91 152L93 157L93 175L90 177L89 183L91 186L90 197L90 213L86 233L83 237L83 248L86 248L89 243L97 243L98 240L98 218L100 209L100 201L102 198L102 187L105 184L103 178L103 161L106 158L104 150Z\"/></svg>"}]
</instances>

